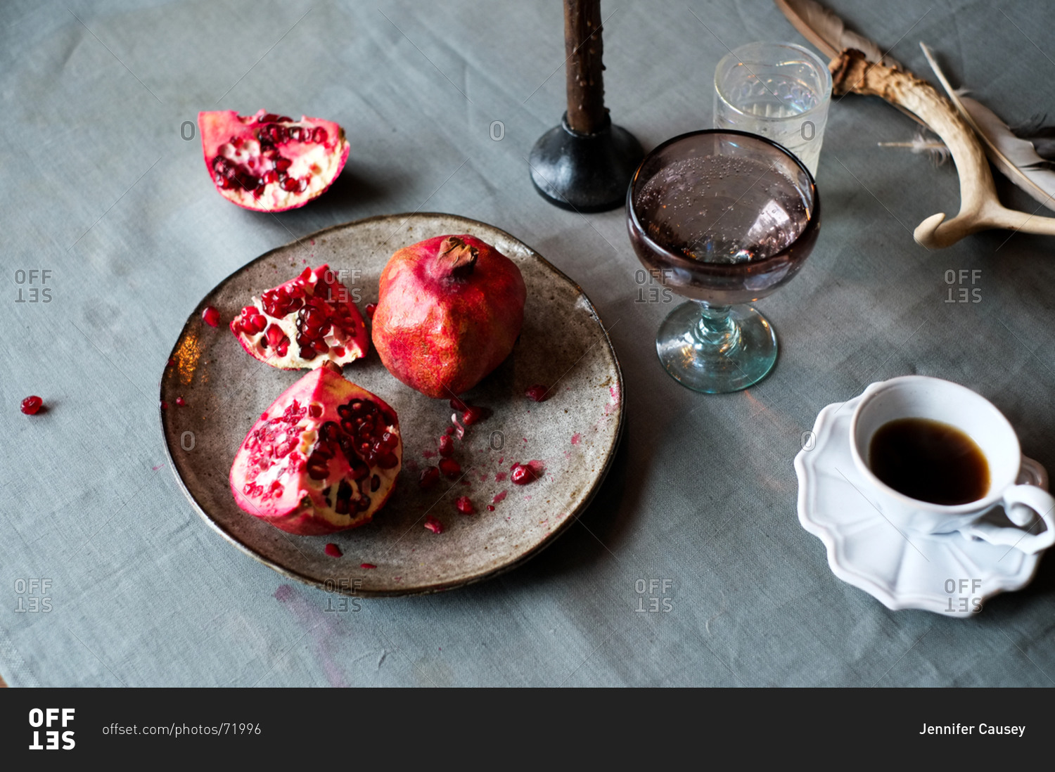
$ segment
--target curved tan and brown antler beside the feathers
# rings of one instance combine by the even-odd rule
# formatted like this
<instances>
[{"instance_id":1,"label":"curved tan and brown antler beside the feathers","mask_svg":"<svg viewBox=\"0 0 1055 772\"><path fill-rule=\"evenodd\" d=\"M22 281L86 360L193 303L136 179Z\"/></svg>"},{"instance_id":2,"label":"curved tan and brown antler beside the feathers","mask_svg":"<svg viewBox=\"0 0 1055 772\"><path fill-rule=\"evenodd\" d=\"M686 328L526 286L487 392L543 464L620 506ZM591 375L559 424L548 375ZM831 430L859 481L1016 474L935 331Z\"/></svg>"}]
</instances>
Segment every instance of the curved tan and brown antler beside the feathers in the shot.
<instances>
[{"instance_id":1,"label":"curved tan and brown antler beside the feathers","mask_svg":"<svg viewBox=\"0 0 1055 772\"><path fill-rule=\"evenodd\" d=\"M960 177L960 212L947 221L940 212L920 223L913 233L919 244L942 249L991 228L1055 235L1055 218L1017 212L1000 204L985 151L974 131L928 82L896 67L870 63L855 49L832 59L828 69L832 93L879 96L908 110L940 136L953 154Z\"/></svg>"}]
</instances>

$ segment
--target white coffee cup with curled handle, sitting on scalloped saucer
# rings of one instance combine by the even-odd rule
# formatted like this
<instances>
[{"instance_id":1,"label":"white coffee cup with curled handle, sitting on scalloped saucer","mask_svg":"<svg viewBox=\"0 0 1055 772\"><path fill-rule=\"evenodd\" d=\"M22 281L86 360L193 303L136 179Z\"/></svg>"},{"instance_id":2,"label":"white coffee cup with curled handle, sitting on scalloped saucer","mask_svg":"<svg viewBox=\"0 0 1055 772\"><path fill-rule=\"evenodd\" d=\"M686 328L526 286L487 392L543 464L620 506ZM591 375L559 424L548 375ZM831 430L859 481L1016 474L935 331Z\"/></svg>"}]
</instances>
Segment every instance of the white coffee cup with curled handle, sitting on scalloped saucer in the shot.
<instances>
[{"instance_id":1,"label":"white coffee cup with curled handle, sitting on scalloped saucer","mask_svg":"<svg viewBox=\"0 0 1055 772\"><path fill-rule=\"evenodd\" d=\"M956 427L981 449L989 464L985 495L966 504L944 505L912 499L883 483L868 465L871 438L889 421L931 419ZM1055 544L1055 498L1035 485L1018 485L1022 450L1011 423L993 403L965 386L925 375L903 375L874 383L850 420L850 452L867 483L862 490L894 525L921 534L960 532L992 544L1014 546L1034 555ZM1015 527L982 522L1002 505ZM1037 534L1035 517L1047 530ZM1024 526L1033 523L1031 528Z\"/></svg>"}]
</instances>

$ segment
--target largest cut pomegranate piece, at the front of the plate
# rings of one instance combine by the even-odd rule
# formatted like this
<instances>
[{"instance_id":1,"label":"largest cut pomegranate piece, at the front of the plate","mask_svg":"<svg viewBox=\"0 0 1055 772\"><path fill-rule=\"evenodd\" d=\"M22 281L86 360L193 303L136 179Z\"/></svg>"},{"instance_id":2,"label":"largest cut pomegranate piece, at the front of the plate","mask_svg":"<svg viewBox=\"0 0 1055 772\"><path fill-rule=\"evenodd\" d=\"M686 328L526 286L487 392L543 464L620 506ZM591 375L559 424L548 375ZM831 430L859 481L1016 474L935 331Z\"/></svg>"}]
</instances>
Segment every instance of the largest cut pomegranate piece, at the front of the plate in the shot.
<instances>
[{"instance_id":1,"label":"largest cut pomegranate piece, at the front of the plate","mask_svg":"<svg viewBox=\"0 0 1055 772\"><path fill-rule=\"evenodd\" d=\"M403 460L396 411L327 363L294 383L249 430L231 466L238 506L290 534L365 525Z\"/></svg>"}]
</instances>

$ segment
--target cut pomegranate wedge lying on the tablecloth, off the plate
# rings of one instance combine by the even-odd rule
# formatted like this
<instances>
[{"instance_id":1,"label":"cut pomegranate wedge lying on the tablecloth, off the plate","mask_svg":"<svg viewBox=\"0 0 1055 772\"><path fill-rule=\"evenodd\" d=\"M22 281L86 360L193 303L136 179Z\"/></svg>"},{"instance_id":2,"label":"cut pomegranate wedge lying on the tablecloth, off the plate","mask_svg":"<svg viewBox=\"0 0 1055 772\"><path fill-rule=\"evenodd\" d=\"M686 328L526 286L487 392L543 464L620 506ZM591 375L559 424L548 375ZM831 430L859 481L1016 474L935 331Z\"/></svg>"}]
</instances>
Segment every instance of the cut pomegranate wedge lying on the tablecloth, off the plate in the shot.
<instances>
[{"instance_id":1,"label":"cut pomegranate wedge lying on the tablecloth, off the plate","mask_svg":"<svg viewBox=\"0 0 1055 772\"><path fill-rule=\"evenodd\" d=\"M330 187L348 159L344 130L322 118L217 110L198 113L198 129L216 190L257 212L303 207Z\"/></svg>"}]
</instances>

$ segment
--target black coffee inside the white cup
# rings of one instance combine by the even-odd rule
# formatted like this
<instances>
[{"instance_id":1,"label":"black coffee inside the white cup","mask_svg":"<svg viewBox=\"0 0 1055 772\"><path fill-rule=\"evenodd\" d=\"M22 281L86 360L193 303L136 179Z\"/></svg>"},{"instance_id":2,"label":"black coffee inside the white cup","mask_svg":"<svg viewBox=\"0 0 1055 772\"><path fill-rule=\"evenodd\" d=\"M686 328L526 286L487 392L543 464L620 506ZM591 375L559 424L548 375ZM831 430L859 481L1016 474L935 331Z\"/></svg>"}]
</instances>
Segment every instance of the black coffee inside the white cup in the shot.
<instances>
[{"instance_id":1,"label":"black coffee inside the white cup","mask_svg":"<svg viewBox=\"0 0 1055 772\"><path fill-rule=\"evenodd\" d=\"M929 419L898 419L879 427L868 467L898 493L932 504L966 504L989 490L989 464L975 441Z\"/></svg>"}]
</instances>

